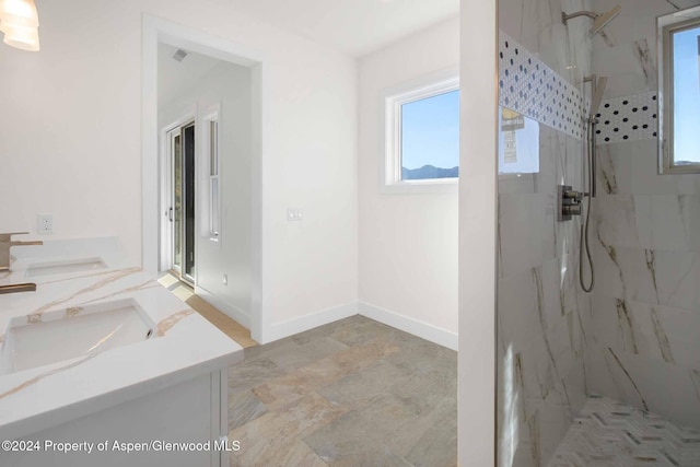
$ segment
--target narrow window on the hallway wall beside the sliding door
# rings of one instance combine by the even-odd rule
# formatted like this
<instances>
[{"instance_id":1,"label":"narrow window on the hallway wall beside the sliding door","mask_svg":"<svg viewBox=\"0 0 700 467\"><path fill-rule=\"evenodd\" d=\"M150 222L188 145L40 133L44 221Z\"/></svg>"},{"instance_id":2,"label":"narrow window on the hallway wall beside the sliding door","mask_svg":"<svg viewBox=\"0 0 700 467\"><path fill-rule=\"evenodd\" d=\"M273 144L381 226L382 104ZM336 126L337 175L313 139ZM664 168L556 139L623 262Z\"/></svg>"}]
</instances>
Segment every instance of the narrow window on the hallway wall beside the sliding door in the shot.
<instances>
[{"instance_id":1,"label":"narrow window on the hallway wall beside the sliding door","mask_svg":"<svg viewBox=\"0 0 700 467\"><path fill-rule=\"evenodd\" d=\"M219 105L208 108L202 117L202 235L218 242L221 234L221 162L219 157Z\"/></svg>"}]
</instances>

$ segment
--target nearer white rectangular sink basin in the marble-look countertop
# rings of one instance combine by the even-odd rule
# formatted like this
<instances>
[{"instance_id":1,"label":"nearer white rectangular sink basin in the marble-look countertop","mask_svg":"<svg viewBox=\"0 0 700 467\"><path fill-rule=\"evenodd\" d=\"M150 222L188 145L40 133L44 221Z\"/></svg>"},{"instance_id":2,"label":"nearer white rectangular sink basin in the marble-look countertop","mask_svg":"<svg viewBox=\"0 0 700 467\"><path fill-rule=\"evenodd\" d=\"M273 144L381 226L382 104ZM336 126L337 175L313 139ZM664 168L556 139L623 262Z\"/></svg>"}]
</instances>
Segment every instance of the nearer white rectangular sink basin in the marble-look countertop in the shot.
<instances>
[{"instance_id":1,"label":"nearer white rectangular sink basin in the marble-look countertop","mask_svg":"<svg viewBox=\"0 0 700 467\"><path fill-rule=\"evenodd\" d=\"M33 369L154 337L155 325L135 300L48 312L38 323L10 320L0 374Z\"/></svg>"}]
</instances>

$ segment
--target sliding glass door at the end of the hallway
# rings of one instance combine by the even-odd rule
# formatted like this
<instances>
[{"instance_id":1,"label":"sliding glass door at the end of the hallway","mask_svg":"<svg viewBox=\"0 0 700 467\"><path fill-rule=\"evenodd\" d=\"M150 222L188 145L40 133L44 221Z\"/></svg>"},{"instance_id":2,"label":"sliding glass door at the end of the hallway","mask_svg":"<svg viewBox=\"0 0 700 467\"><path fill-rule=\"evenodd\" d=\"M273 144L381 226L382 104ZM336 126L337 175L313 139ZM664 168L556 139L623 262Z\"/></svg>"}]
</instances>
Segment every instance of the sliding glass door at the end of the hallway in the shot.
<instances>
[{"instance_id":1,"label":"sliding glass door at the end of the hallway","mask_svg":"<svg viewBox=\"0 0 700 467\"><path fill-rule=\"evenodd\" d=\"M168 226L172 252L170 255L170 270L194 287L195 269L195 222L197 207L195 194L197 190L195 164L195 121L188 121L166 132L167 165L168 165Z\"/></svg>"}]
</instances>

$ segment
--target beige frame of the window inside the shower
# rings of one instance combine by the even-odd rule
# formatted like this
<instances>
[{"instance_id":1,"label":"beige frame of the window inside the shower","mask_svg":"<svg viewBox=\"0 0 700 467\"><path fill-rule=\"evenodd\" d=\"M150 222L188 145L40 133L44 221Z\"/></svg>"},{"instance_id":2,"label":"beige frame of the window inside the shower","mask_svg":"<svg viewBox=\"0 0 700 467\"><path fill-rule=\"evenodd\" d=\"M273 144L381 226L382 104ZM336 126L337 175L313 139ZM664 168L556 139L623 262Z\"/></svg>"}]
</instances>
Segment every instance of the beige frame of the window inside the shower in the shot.
<instances>
[{"instance_id":1,"label":"beige frame of the window inside the shower","mask_svg":"<svg viewBox=\"0 0 700 467\"><path fill-rule=\"evenodd\" d=\"M698 174L700 162L677 165L674 157L674 50L675 33L700 27L700 8L693 7L658 16L658 173Z\"/></svg>"}]
</instances>

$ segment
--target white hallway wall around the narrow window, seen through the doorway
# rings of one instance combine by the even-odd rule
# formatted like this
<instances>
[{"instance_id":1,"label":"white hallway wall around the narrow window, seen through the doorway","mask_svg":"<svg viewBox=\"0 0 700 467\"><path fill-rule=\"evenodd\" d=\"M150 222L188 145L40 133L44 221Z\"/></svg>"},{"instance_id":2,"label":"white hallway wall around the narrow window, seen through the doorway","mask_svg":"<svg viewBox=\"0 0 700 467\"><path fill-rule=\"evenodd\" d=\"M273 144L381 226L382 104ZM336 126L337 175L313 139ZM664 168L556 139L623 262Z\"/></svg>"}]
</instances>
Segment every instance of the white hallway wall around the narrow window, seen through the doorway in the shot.
<instances>
[{"instance_id":1,"label":"white hallway wall around the narrow window, seen through the doorway","mask_svg":"<svg viewBox=\"0 0 700 467\"><path fill-rule=\"evenodd\" d=\"M188 57L189 58L189 57ZM187 60L187 58L186 58ZM159 78L162 78L159 74ZM167 78L165 78L167 79ZM197 288L215 297L221 311L249 326L252 288L252 73L250 69L221 61L189 89L182 90L171 102L159 104L159 128L178 121L196 109L197 133L197 224L196 279ZM209 160L202 159L202 118L212 105L220 105L219 157L221 179L221 229L219 241L202 235L208 225ZM197 143L197 141L199 141ZM205 164L201 164L201 162ZM202 176L203 174L203 176ZM208 231L207 231L208 232ZM223 275L229 283L223 283ZM201 293L201 291L198 291Z\"/></svg>"}]
</instances>

